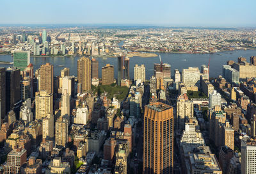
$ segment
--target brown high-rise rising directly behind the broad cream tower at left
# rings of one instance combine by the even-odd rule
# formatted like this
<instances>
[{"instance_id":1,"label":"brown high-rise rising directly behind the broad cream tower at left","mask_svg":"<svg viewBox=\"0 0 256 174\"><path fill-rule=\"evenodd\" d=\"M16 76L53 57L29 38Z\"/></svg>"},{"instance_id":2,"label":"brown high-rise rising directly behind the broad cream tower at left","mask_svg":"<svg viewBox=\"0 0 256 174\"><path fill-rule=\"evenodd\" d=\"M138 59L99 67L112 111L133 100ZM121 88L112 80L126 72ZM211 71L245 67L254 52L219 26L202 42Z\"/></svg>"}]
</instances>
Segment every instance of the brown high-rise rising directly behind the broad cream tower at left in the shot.
<instances>
[{"instance_id":1,"label":"brown high-rise rising directly behind the broad cream tower at left","mask_svg":"<svg viewBox=\"0 0 256 174\"><path fill-rule=\"evenodd\" d=\"M39 91L46 91L47 94L53 91L53 65L46 63L40 67Z\"/></svg>"}]
</instances>

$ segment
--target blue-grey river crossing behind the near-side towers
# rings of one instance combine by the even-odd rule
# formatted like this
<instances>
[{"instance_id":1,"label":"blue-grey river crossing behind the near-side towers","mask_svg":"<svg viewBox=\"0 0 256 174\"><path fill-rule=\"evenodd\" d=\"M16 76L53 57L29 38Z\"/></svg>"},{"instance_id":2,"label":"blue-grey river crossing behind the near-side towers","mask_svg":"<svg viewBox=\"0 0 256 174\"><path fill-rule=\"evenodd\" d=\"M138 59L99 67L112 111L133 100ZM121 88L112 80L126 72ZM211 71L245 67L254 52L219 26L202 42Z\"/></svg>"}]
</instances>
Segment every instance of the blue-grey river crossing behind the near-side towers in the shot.
<instances>
[{"instance_id":1,"label":"blue-grey river crossing behind the near-side towers","mask_svg":"<svg viewBox=\"0 0 256 174\"><path fill-rule=\"evenodd\" d=\"M218 52L216 54L179 54L179 53L161 53L163 63L169 63L172 67L172 75L175 69L179 69L182 72L183 68L188 67L201 67L201 65L208 65L210 62L210 77L218 77L222 73L222 65L226 64L228 60L237 61L237 58L243 56L250 61L250 56L256 56L256 50L239 50L239 51L227 51ZM61 69L64 67L70 68L70 75L77 75L77 59L75 57L33 57L31 56L31 63L34 65L34 70L40 68L40 65L47 62L54 65L54 75L60 75ZM117 59L116 58L95 58L99 61L99 77L101 77L101 68L110 63L115 66L115 77L117 77ZM0 61L13 61L11 55L0 55ZM129 70L130 77L134 76L134 65L144 64L146 67L146 78L149 79L154 74L154 63L159 63L159 57L153 58L130 58ZM58 65L64 65L59 67ZM10 67L13 65L0 65L0 67Z\"/></svg>"}]
</instances>

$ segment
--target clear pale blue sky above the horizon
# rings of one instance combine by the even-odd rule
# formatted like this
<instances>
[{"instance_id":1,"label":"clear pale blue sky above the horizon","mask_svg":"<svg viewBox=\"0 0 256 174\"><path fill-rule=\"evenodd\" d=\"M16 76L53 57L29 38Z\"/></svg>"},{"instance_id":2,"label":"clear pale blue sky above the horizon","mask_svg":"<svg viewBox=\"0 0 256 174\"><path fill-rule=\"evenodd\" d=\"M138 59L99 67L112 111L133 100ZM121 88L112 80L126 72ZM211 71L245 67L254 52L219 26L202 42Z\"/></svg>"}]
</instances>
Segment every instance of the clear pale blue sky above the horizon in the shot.
<instances>
[{"instance_id":1,"label":"clear pale blue sky above the horizon","mask_svg":"<svg viewBox=\"0 0 256 174\"><path fill-rule=\"evenodd\" d=\"M255 0L1 0L0 24L256 27Z\"/></svg>"}]
</instances>

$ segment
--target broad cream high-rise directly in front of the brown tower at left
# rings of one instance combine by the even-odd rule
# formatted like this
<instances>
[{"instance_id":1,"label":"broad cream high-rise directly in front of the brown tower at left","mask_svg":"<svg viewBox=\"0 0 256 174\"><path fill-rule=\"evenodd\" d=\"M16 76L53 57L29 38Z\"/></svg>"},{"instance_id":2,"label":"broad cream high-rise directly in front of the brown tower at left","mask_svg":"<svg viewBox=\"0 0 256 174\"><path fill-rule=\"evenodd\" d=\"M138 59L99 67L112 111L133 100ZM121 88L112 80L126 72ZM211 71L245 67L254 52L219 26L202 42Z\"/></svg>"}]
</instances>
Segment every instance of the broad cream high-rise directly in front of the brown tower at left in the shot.
<instances>
[{"instance_id":1,"label":"broad cream high-rise directly in front of the brown tower at left","mask_svg":"<svg viewBox=\"0 0 256 174\"><path fill-rule=\"evenodd\" d=\"M36 119L42 120L53 113L53 95L46 91L36 92Z\"/></svg>"}]
</instances>

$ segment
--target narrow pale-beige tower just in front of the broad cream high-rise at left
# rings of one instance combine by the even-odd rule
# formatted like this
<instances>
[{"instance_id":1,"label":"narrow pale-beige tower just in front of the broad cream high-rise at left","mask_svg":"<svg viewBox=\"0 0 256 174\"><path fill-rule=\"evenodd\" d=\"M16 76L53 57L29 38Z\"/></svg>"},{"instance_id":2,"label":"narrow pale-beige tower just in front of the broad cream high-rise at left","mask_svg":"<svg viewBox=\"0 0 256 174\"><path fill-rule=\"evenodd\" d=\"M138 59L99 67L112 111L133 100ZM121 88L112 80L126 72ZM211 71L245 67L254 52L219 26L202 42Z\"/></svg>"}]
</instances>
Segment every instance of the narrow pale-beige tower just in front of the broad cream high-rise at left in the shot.
<instances>
[{"instance_id":1,"label":"narrow pale-beige tower just in front of the broad cream high-rise at left","mask_svg":"<svg viewBox=\"0 0 256 174\"><path fill-rule=\"evenodd\" d=\"M54 116L49 113L46 117L42 118L43 120L43 139L54 138Z\"/></svg>"}]
</instances>

